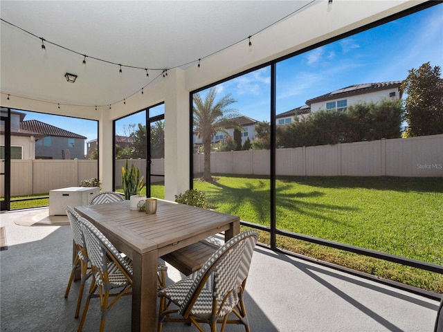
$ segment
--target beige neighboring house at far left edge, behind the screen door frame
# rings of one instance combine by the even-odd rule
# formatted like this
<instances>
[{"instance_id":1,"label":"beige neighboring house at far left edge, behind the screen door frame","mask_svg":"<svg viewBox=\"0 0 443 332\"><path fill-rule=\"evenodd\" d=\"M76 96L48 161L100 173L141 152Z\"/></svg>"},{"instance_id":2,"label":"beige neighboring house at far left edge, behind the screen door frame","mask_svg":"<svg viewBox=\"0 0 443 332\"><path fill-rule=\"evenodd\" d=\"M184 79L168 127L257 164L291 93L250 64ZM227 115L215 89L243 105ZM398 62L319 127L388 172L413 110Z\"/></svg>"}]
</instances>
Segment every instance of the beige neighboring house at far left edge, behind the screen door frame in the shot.
<instances>
[{"instance_id":1,"label":"beige neighboring house at far left edge, behind the screen door frame","mask_svg":"<svg viewBox=\"0 0 443 332\"><path fill-rule=\"evenodd\" d=\"M1 109L1 113L8 112L7 109ZM35 131L21 129L20 124L23 121L25 113L12 111L10 116L11 127L11 159L35 159L35 142L42 140L42 134ZM0 127L0 159L5 158L5 128Z\"/></svg>"}]
</instances>

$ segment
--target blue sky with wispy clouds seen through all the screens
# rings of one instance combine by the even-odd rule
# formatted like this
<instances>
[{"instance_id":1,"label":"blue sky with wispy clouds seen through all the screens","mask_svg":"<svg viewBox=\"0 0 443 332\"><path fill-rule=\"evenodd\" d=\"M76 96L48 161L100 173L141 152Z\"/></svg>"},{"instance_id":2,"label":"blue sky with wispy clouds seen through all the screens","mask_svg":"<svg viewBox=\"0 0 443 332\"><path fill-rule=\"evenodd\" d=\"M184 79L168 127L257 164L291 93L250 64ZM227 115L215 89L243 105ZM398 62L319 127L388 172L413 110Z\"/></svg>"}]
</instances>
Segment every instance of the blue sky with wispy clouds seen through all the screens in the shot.
<instances>
[{"instance_id":1,"label":"blue sky with wispy clouds seen through all the screens","mask_svg":"<svg viewBox=\"0 0 443 332\"><path fill-rule=\"evenodd\" d=\"M404 80L411 68L425 62L443 68L443 4L278 63L276 113L352 84ZM219 84L217 97L231 93L239 113L269 121L270 73L266 67ZM97 138L95 121L25 113L25 120L46 122L87 140ZM144 116L132 116L130 122L144 124Z\"/></svg>"}]
</instances>

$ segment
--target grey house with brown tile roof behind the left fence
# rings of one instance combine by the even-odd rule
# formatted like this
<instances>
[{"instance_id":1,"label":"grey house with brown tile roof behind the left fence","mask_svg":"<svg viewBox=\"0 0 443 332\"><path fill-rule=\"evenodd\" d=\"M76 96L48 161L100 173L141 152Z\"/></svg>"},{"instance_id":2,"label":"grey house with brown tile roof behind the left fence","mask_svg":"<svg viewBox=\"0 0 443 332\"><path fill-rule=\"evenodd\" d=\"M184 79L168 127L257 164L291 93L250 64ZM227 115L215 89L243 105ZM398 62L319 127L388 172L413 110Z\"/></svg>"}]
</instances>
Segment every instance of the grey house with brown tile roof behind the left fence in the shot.
<instances>
[{"instance_id":1,"label":"grey house with brown tile roof behind the left fence","mask_svg":"<svg viewBox=\"0 0 443 332\"><path fill-rule=\"evenodd\" d=\"M39 120L21 121L20 129L43 136L35 142L35 159L84 159L84 136Z\"/></svg>"}]
</instances>

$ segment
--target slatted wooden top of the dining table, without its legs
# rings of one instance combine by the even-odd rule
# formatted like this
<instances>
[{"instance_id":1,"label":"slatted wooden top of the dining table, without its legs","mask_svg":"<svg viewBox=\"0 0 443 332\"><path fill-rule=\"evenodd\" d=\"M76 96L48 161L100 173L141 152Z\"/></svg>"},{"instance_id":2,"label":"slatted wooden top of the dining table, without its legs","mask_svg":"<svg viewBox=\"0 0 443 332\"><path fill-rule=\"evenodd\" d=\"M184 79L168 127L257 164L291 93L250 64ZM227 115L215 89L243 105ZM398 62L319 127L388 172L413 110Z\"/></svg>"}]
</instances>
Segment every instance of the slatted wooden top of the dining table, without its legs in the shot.
<instances>
[{"instance_id":1,"label":"slatted wooden top of the dining table, without its legs","mask_svg":"<svg viewBox=\"0 0 443 332\"><path fill-rule=\"evenodd\" d=\"M159 200L156 214L129 210L129 201L75 208L97 227L112 232L133 250L143 253L183 241L238 221L238 216Z\"/></svg>"}]
</instances>

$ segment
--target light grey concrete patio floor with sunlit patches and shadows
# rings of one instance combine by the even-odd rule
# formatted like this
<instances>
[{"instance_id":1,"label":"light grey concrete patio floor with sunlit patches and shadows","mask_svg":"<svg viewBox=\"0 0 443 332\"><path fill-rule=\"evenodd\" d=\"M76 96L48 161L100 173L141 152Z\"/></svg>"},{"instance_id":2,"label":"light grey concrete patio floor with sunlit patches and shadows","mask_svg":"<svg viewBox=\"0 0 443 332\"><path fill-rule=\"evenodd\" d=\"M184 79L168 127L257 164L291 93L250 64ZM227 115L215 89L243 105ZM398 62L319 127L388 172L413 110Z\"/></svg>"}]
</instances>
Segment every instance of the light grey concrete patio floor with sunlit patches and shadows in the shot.
<instances>
[{"instance_id":1,"label":"light grey concrete patio floor with sunlit patches and shadows","mask_svg":"<svg viewBox=\"0 0 443 332\"><path fill-rule=\"evenodd\" d=\"M8 249L0 252L1 331L77 331L74 316L80 283L68 299L71 228L21 226L27 210L0 214ZM169 266L168 282L182 275ZM438 302L256 247L246 286L251 331L417 331L432 332ZM117 302L105 331L131 331L131 298ZM91 300L83 331L97 331L100 310ZM163 331L197 331L164 324ZM207 330L209 331L209 329ZM228 326L226 331L244 331Z\"/></svg>"}]
</instances>

